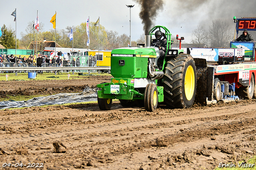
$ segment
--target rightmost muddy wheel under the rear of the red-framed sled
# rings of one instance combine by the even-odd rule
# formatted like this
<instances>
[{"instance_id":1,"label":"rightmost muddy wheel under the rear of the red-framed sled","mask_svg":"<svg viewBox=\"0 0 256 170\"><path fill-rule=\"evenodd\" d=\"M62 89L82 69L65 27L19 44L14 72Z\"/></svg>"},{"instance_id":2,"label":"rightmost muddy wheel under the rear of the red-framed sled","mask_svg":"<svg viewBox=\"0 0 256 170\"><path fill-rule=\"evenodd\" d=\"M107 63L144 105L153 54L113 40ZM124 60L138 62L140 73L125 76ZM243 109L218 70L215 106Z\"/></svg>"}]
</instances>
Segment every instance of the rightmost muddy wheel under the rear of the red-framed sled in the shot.
<instances>
[{"instance_id":1,"label":"rightmost muddy wheel under the rear of the red-framed sled","mask_svg":"<svg viewBox=\"0 0 256 170\"><path fill-rule=\"evenodd\" d=\"M243 99L252 99L254 96L254 89L254 75L252 74L250 84L248 86L236 89L236 95Z\"/></svg>"}]
</instances>

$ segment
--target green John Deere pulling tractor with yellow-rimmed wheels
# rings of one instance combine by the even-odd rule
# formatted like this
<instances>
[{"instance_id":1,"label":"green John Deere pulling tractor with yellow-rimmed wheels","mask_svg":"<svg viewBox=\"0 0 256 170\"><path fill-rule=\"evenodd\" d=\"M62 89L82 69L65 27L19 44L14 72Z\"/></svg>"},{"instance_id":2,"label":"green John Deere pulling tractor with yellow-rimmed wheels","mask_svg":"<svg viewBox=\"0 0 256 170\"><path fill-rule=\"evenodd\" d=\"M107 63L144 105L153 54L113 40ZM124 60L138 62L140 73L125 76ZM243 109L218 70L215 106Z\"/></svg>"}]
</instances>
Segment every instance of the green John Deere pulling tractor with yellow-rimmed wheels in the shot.
<instances>
[{"instance_id":1,"label":"green John Deere pulling tractor with yellow-rimmed wheels","mask_svg":"<svg viewBox=\"0 0 256 170\"><path fill-rule=\"evenodd\" d=\"M164 57L152 46L154 33L160 30L167 40ZM183 49L171 49L170 31L155 26L145 36L145 45L124 47L111 52L110 83L98 84L98 105L110 110L112 99L124 107L144 106L154 112L159 102L171 108L189 108L196 95L196 65ZM151 43L151 45L150 45ZM162 58L162 59L161 59Z\"/></svg>"}]
</instances>

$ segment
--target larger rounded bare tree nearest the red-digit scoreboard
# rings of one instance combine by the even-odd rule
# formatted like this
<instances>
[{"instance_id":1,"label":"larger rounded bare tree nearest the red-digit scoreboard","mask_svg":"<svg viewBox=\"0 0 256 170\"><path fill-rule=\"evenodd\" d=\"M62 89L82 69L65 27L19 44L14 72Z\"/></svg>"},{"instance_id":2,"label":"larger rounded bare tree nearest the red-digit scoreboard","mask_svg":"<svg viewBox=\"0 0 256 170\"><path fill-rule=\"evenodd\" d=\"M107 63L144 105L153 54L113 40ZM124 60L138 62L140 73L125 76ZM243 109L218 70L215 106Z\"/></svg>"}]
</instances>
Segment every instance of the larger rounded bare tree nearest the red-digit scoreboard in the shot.
<instances>
[{"instance_id":1,"label":"larger rounded bare tree nearest the red-digit scoreboard","mask_svg":"<svg viewBox=\"0 0 256 170\"><path fill-rule=\"evenodd\" d=\"M232 40L232 28L228 22L220 19L212 20L209 38L212 47L229 47L229 42Z\"/></svg>"}]
</instances>

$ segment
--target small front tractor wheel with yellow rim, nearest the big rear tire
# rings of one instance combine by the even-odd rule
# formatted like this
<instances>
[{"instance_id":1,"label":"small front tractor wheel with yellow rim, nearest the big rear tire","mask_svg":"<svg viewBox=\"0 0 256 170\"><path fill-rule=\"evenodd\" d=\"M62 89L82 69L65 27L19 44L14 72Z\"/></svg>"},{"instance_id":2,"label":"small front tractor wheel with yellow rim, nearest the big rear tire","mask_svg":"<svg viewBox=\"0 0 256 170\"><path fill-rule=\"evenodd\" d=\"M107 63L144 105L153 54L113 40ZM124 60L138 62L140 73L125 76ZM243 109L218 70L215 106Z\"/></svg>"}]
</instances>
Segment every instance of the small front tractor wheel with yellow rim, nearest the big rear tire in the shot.
<instances>
[{"instance_id":1,"label":"small front tractor wheel with yellow rim, nearest the big rear tire","mask_svg":"<svg viewBox=\"0 0 256 170\"><path fill-rule=\"evenodd\" d=\"M158 104L158 91L155 84L150 83L146 92L146 99L144 98L144 105L146 111L154 112ZM145 90L146 91L146 90Z\"/></svg>"}]
</instances>

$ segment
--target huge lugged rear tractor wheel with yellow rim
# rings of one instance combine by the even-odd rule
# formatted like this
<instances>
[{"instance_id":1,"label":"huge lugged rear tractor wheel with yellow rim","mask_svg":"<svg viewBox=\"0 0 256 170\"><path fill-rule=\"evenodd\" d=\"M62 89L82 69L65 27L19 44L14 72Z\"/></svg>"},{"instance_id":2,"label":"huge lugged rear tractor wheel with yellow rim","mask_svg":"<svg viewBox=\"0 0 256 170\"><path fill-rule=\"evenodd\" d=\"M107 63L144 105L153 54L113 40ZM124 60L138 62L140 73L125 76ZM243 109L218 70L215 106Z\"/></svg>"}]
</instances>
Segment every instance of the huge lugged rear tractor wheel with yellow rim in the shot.
<instances>
[{"instance_id":1,"label":"huge lugged rear tractor wheel with yellow rim","mask_svg":"<svg viewBox=\"0 0 256 170\"><path fill-rule=\"evenodd\" d=\"M196 65L189 54L181 53L166 62L164 102L172 108L190 108L196 96Z\"/></svg>"}]
</instances>

